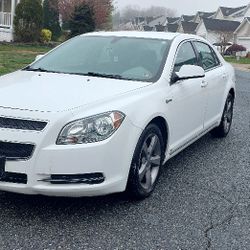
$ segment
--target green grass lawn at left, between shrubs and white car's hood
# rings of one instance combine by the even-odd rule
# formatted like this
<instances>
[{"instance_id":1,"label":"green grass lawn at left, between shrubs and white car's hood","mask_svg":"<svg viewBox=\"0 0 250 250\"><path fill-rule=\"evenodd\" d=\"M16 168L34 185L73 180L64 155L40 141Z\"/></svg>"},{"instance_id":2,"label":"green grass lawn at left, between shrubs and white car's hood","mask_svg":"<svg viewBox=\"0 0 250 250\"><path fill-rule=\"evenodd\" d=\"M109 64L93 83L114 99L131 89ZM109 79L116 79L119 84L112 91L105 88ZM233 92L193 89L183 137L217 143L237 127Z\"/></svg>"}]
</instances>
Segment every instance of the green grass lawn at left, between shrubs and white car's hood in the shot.
<instances>
[{"instance_id":1,"label":"green grass lawn at left, between shrubs and white car's hood","mask_svg":"<svg viewBox=\"0 0 250 250\"><path fill-rule=\"evenodd\" d=\"M51 48L39 45L0 44L0 75L21 69Z\"/></svg>"}]
</instances>

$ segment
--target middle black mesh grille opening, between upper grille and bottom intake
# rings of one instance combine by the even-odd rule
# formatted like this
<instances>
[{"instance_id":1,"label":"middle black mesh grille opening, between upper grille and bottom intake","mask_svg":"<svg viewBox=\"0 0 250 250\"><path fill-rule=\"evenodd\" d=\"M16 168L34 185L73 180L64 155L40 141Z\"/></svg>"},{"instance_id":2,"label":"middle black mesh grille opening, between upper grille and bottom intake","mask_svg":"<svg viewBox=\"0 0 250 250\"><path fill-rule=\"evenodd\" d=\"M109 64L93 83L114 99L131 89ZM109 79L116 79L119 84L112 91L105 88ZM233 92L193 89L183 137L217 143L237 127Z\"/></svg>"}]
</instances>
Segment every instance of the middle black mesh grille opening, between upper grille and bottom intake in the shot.
<instances>
[{"instance_id":1,"label":"middle black mesh grille opening, between upper grille and bottom intake","mask_svg":"<svg viewBox=\"0 0 250 250\"><path fill-rule=\"evenodd\" d=\"M0 156L4 156L8 160L24 160L32 156L34 148L35 146L32 144L0 141Z\"/></svg>"}]
</instances>

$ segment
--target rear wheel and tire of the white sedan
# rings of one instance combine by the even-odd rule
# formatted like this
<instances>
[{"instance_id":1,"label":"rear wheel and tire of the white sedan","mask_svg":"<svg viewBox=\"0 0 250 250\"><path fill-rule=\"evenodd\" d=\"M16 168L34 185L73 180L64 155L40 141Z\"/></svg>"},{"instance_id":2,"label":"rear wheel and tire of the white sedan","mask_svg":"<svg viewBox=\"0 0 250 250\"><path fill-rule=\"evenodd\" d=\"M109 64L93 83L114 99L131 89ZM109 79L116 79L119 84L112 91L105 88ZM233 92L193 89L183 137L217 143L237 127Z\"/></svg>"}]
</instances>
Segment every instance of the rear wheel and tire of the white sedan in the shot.
<instances>
[{"instance_id":1,"label":"rear wheel and tire of the white sedan","mask_svg":"<svg viewBox=\"0 0 250 250\"><path fill-rule=\"evenodd\" d=\"M233 120L234 97L231 93L228 94L225 107L223 110L220 125L211 131L214 137L226 137L230 131Z\"/></svg>"}]
</instances>

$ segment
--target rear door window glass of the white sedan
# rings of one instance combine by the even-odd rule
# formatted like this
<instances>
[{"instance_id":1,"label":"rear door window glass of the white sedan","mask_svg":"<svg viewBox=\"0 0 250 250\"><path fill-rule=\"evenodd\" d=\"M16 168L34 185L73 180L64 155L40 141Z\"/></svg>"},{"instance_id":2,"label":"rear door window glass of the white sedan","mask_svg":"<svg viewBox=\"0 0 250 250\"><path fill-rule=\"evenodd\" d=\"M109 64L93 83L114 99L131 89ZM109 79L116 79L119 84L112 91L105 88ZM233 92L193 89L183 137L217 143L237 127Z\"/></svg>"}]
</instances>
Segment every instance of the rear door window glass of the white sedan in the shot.
<instances>
[{"instance_id":1,"label":"rear door window glass of the white sedan","mask_svg":"<svg viewBox=\"0 0 250 250\"><path fill-rule=\"evenodd\" d=\"M199 53L201 66L204 70L209 70L220 65L218 57L209 45L202 42L194 42L194 44Z\"/></svg>"}]
</instances>

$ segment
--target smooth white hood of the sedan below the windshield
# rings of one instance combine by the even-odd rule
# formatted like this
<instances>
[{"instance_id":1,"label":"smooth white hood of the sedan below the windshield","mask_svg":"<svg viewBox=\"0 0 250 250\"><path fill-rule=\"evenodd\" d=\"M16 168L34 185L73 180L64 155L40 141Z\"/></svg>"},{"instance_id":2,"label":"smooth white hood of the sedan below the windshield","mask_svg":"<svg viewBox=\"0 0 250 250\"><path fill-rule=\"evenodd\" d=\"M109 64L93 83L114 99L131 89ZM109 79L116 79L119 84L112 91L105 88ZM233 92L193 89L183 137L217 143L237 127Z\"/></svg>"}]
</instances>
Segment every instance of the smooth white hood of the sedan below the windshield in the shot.
<instances>
[{"instance_id":1,"label":"smooth white hood of the sedan below the windshield","mask_svg":"<svg viewBox=\"0 0 250 250\"><path fill-rule=\"evenodd\" d=\"M0 107L61 112L112 99L150 83L18 71L0 77Z\"/></svg>"}]
</instances>

